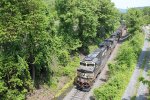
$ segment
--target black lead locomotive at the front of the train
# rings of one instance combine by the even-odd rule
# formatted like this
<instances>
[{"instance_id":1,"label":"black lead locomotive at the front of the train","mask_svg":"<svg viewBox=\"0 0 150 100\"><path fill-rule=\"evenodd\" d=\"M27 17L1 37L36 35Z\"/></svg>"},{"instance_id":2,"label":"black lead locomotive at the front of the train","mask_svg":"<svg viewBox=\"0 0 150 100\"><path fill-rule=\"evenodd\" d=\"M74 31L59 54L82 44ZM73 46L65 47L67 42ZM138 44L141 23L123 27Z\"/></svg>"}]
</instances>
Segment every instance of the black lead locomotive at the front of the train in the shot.
<instances>
[{"instance_id":1,"label":"black lead locomotive at the front of the train","mask_svg":"<svg viewBox=\"0 0 150 100\"><path fill-rule=\"evenodd\" d=\"M110 52L110 49L107 49L107 46L104 44L80 62L80 66L77 69L77 76L74 80L77 89L83 91L90 90L98 74L104 67L106 61L104 59L109 55L108 51Z\"/></svg>"}]
</instances>

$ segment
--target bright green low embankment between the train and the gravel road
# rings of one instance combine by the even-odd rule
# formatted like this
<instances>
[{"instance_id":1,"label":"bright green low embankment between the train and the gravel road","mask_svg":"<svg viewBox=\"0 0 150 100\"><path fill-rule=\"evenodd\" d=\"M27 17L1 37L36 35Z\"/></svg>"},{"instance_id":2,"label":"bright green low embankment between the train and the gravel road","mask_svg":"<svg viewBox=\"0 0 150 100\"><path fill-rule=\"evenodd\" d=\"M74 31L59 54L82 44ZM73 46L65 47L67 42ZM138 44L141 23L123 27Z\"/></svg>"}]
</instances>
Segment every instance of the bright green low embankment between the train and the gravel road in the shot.
<instances>
[{"instance_id":1,"label":"bright green low embankment between the train and the gravel road","mask_svg":"<svg viewBox=\"0 0 150 100\"><path fill-rule=\"evenodd\" d=\"M115 61L108 66L109 80L94 91L96 99L121 99L135 69L143 41L143 33L137 31L133 37L123 43Z\"/></svg>"}]
</instances>

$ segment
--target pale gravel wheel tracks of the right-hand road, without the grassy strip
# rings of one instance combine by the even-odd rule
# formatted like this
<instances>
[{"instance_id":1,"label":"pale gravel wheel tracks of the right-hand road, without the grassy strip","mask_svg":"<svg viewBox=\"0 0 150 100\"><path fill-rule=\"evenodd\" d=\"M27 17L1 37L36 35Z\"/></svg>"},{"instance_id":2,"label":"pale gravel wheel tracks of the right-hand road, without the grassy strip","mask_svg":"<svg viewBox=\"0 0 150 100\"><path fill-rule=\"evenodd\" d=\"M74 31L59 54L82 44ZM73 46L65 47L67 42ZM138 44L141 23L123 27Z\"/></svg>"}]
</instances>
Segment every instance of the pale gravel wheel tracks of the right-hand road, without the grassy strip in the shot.
<instances>
[{"instance_id":1,"label":"pale gravel wheel tracks of the right-hand road, without the grassy strip","mask_svg":"<svg viewBox=\"0 0 150 100\"><path fill-rule=\"evenodd\" d=\"M139 57L139 60L138 60L138 63L135 67L135 70L132 74L132 77L130 79L130 82L122 96L122 100L130 100L133 96L136 95L136 90L137 90L137 82L138 82L138 78L141 74L141 67L142 67L142 63L144 61L144 58L145 58L145 55L146 52L148 51L148 48L150 47L150 43L149 41L147 40L147 37L148 37L148 34L147 34L147 30L146 28L143 28L143 30L145 31L145 41L144 41L144 46L143 46L143 49L142 49L142 52L140 54L140 57ZM146 69L144 69L144 71L146 72ZM143 73L144 74L144 73ZM145 74L144 74L145 75ZM144 100L143 98L141 98L141 94L143 94L143 89L142 88L146 88L145 86L143 86L142 84L140 84L140 87L138 89L138 95L137 95L137 100ZM141 98L141 99L139 99Z\"/></svg>"}]
</instances>

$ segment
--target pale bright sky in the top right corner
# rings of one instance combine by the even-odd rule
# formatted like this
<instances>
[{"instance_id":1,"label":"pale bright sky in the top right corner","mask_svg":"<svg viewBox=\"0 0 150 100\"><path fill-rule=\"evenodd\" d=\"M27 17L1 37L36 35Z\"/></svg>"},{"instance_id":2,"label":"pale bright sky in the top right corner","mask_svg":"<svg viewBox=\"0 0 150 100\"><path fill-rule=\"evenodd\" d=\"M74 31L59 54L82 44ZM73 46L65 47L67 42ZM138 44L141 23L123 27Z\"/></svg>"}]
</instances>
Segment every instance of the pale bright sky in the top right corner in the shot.
<instances>
[{"instance_id":1,"label":"pale bright sky in the top right corner","mask_svg":"<svg viewBox=\"0 0 150 100\"><path fill-rule=\"evenodd\" d=\"M127 9L133 7L150 6L150 0L111 0L117 8Z\"/></svg>"}]
</instances>

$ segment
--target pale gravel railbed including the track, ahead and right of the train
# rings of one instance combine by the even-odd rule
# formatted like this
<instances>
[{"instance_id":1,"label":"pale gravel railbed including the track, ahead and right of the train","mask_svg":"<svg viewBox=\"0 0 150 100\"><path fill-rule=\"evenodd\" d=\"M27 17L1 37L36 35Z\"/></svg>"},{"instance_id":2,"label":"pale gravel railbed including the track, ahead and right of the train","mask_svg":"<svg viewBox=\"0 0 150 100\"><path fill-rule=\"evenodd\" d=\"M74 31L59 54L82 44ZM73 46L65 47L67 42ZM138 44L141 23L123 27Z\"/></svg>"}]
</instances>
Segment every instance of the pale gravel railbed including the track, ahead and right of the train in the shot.
<instances>
[{"instance_id":1,"label":"pale gravel railbed including the track, ahead and right of the train","mask_svg":"<svg viewBox=\"0 0 150 100\"><path fill-rule=\"evenodd\" d=\"M120 45L122 44L123 40L128 37L125 33L126 32L123 33L123 38L121 38L121 41L116 45L114 51L112 52L107 62L112 61L116 57ZM82 91L77 92L77 89L73 87L72 90L64 97L63 100L94 100L93 90L95 88L98 88L99 86L101 86L107 81L107 77L108 77L107 72L108 72L108 67L106 64L102 72L100 73L100 75L95 80L95 83L93 84L92 89L89 92L84 92L84 93Z\"/></svg>"}]
</instances>

